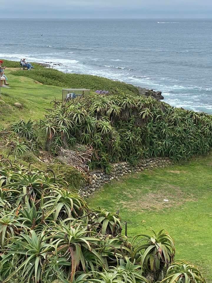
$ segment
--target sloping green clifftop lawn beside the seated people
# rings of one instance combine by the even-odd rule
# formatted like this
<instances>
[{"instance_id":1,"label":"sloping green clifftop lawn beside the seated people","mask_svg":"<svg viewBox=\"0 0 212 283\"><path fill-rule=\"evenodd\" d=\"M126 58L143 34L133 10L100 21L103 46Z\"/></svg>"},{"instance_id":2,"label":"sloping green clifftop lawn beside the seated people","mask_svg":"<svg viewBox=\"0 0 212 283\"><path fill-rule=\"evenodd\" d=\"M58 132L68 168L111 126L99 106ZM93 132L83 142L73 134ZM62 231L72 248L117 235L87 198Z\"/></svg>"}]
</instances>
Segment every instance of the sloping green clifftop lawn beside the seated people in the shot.
<instances>
[{"instance_id":1,"label":"sloping green clifftop lawn beside the seated people","mask_svg":"<svg viewBox=\"0 0 212 283\"><path fill-rule=\"evenodd\" d=\"M0 126L6 126L19 119L42 119L46 113L45 108L50 108L50 102L56 97L62 98L62 88L57 86L42 85L27 77L11 75L11 71L19 68L6 68L10 88L1 88L0 99ZM26 72L33 72L27 71ZM14 103L23 105L22 109L14 107Z\"/></svg>"}]
</instances>

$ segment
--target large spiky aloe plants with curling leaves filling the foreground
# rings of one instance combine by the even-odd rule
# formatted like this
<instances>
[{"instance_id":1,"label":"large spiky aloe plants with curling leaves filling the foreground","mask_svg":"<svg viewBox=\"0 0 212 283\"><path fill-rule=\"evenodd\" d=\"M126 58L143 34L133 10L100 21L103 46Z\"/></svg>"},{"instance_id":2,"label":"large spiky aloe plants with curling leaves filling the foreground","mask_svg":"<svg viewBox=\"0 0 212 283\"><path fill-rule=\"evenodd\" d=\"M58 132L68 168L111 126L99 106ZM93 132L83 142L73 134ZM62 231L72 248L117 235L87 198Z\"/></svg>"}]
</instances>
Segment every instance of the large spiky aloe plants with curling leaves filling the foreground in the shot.
<instances>
[{"instance_id":1,"label":"large spiky aloe plants with curling leaves filling the foreground","mask_svg":"<svg viewBox=\"0 0 212 283\"><path fill-rule=\"evenodd\" d=\"M0 159L0 207L0 282L205 282L174 261L167 231L130 241L119 215L90 208L54 172Z\"/></svg>"}]
</instances>

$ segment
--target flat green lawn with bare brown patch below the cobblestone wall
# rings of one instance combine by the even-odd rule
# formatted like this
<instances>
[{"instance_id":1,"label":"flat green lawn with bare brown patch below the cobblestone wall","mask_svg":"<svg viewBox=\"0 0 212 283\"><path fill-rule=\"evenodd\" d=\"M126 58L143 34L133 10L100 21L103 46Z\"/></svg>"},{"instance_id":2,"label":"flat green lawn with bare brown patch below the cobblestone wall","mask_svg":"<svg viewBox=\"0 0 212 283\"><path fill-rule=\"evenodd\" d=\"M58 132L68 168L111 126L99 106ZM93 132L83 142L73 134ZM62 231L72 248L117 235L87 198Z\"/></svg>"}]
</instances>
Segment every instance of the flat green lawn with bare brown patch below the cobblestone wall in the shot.
<instances>
[{"instance_id":1,"label":"flat green lawn with bare brown patch below the cobblestone wall","mask_svg":"<svg viewBox=\"0 0 212 283\"><path fill-rule=\"evenodd\" d=\"M207 282L212 282L211 169L212 155L145 171L104 186L88 202L110 211L120 209L129 237L166 229L175 239L176 259L198 265Z\"/></svg>"}]
</instances>

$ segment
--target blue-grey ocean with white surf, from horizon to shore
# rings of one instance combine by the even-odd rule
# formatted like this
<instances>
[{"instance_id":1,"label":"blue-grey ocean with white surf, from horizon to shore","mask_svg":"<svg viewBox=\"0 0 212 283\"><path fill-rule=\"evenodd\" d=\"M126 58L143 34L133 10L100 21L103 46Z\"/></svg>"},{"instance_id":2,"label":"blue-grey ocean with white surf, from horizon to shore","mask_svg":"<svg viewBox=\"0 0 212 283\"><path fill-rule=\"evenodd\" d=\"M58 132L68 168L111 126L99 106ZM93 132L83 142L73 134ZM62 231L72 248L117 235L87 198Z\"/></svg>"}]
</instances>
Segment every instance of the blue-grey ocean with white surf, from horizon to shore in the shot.
<instances>
[{"instance_id":1,"label":"blue-grey ocean with white surf, from horizon to shore","mask_svg":"<svg viewBox=\"0 0 212 283\"><path fill-rule=\"evenodd\" d=\"M212 19L0 19L0 57L162 91L212 114ZM61 63L62 65L53 65Z\"/></svg>"}]
</instances>

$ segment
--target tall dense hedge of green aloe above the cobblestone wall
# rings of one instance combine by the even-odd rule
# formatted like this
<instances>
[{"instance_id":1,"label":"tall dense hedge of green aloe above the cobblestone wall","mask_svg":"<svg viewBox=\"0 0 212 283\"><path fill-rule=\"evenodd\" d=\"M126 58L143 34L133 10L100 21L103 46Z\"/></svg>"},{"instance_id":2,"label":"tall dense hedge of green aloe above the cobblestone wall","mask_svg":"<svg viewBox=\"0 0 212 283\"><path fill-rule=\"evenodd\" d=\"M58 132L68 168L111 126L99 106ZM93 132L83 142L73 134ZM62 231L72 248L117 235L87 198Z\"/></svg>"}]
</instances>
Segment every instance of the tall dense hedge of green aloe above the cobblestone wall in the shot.
<instances>
[{"instance_id":1,"label":"tall dense hedge of green aloe above the cobblestone wall","mask_svg":"<svg viewBox=\"0 0 212 283\"><path fill-rule=\"evenodd\" d=\"M108 171L108 163L119 160L158 156L179 161L206 154L212 146L211 115L123 93L57 103L42 130L53 153L85 144L94 149L91 168Z\"/></svg>"}]
</instances>

